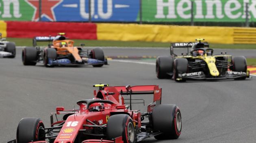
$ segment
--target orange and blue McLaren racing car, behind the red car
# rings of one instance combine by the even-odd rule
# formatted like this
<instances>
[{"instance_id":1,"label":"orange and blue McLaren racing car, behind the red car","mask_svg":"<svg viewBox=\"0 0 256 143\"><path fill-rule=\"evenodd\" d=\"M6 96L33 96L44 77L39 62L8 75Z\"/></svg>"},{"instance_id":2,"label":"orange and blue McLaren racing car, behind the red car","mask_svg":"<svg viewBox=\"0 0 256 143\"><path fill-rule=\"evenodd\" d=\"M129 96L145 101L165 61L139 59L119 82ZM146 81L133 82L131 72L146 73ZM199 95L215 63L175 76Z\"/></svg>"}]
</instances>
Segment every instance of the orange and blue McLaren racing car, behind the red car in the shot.
<instances>
[{"instance_id":1,"label":"orange and blue McLaren racing car, behind the red car","mask_svg":"<svg viewBox=\"0 0 256 143\"><path fill-rule=\"evenodd\" d=\"M40 48L37 42L52 42L48 47ZM102 48L83 50L81 47L74 46L74 41L65 37L65 33L58 36L35 37L33 47L26 47L22 50L22 62L24 65L36 65L43 63L46 67L54 65L93 65L102 67L107 65Z\"/></svg>"}]
</instances>

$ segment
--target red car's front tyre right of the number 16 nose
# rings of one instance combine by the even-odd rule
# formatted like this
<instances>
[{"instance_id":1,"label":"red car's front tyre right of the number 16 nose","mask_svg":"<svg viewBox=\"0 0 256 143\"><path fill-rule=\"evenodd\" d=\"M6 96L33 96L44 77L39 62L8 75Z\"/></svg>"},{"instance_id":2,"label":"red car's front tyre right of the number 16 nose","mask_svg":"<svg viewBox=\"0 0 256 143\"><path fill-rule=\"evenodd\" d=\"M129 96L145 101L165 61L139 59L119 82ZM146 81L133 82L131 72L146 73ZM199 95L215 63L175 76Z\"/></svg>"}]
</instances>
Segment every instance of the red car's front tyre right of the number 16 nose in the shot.
<instances>
[{"instance_id":1,"label":"red car's front tyre right of the number 16 nose","mask_svg":"<svg viewBox=\"0 0 256 143\"><path fill-rule=\"evenodd\" d=\"M107 123L106 133L110 140L122 136L124 143L135 143L135 128L132 119L126 114L110 116Z\"/></svg>"}]
</instances>

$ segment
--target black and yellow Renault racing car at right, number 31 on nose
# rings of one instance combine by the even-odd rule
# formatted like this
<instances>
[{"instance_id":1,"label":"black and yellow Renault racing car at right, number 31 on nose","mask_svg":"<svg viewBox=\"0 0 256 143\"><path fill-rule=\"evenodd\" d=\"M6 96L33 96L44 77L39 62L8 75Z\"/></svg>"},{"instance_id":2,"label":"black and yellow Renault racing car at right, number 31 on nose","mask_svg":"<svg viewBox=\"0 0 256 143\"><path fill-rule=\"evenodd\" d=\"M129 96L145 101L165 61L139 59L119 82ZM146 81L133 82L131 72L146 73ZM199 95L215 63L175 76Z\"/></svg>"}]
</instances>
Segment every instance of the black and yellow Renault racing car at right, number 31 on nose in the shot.
<instances>
[{"instance_id":1,"label":"black and yellow Renault racing car at right, number 31 on nose","mask_svg":"<svg viewBox=\"0 0 256 143\"><path fill-rule=\"evenodd\" d=\"M249 78L245 57L232 57L226 52L213 55L208 42L196 40L198 42L172 43L171 56L157 57L157 78L172 77L175 81ZM178 56L174 48L187 48L187 52Z\"/></svg>"}]
</instances>

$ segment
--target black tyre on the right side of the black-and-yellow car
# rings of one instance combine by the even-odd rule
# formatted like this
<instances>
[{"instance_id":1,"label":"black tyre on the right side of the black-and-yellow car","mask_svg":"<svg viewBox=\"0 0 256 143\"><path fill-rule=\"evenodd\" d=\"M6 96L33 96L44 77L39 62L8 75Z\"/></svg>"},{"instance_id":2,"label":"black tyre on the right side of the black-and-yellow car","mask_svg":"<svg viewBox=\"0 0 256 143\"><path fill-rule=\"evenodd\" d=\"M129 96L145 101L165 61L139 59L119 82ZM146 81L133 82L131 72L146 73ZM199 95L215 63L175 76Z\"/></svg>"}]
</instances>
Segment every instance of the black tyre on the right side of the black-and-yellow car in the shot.
<instances>
[{"instance_id":1,"label":"black tyre on the right side of the black-and-yellow car","mask_svg":"<svg viewBox=\"0 0 256 143\"><path fill-rule=\"evenodd\" d=\"M233 64L233 70L232 71L237 71L237 72L245 72L247 71L247 62L246 62L246 58L244 56L238 56L238 57L234 57L232 59L232 64ZM244 80L246 78L246 76L242 77L242 78L236 78L238 80Z\"/></svg>"}]
</instances>

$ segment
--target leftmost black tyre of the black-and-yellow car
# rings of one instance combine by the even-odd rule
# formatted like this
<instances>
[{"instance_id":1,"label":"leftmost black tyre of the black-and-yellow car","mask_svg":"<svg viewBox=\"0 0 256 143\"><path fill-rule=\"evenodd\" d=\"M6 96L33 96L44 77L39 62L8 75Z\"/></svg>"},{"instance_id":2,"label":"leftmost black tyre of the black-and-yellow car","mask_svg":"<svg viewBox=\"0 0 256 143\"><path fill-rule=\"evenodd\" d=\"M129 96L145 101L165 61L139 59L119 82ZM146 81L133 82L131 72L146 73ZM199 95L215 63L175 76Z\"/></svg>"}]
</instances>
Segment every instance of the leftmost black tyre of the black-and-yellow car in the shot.
<instances>
[{"instance_id":1,"label":"leftmost black tyre of the black-and-yellow car","mask_svg":"<svg viewBox=\"0 0 256 143\"><path fill-rule=\"evenodd\" d=\"M156 77L171 78L167 73L173 69L174 59L171 56L161 56L156 59Z\"/></svg>"}]
</instances>

